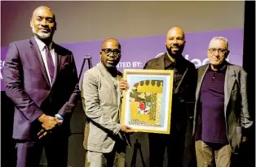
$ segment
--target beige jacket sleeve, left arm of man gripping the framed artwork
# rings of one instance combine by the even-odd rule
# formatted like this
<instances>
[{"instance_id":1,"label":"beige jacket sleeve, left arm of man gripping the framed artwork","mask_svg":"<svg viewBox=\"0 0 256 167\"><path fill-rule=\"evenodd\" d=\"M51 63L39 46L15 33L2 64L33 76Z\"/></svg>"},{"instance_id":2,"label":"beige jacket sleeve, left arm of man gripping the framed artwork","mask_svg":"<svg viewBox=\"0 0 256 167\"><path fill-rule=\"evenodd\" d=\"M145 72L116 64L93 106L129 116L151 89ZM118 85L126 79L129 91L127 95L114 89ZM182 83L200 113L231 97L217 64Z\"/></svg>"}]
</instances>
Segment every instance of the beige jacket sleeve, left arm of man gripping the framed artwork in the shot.
<instances>
[{"instance_id":1,"label":"beige jacket sleeve, left arm of man gripping the framed artwork","mask_svg":"<svg viewBox=\"0 0 256 167\"><path fill-rule=\"evenodd\" d=\"M117 135L121 129L121 125L104 114L100 108L99 101L97 80L87 71L82 80L82 104L86 112L86 117L90 118L92 122L95 122L95 124L103 129L112 131L114 135Z\"/></svg>"}]
</instances>

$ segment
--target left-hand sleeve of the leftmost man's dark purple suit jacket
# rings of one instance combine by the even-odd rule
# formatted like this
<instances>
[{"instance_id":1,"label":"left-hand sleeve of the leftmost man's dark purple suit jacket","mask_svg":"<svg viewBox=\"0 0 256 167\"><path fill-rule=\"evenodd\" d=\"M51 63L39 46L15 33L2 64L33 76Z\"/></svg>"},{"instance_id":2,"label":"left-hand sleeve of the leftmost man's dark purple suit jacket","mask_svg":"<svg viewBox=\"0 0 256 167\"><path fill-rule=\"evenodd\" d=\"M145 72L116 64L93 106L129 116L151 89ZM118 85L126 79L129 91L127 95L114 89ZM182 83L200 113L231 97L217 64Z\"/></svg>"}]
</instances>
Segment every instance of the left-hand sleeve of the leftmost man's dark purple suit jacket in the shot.
<instances>
[{"instance_id":1,"label":"left-hand sleeve of the leftmost man's dark purple suit jacket","mask_svg":"<svg viewBox=\"0 0 256 167\"><path fill-rule=\"evenodd\" d=\"M6 93L15 107L24 114L24 117L33 122L42 115L42 110L24 91L23 69L20 54L14 43L9 45L5 66L3 67L3 80L6 84Z\"/></svg>"}]
</instances>

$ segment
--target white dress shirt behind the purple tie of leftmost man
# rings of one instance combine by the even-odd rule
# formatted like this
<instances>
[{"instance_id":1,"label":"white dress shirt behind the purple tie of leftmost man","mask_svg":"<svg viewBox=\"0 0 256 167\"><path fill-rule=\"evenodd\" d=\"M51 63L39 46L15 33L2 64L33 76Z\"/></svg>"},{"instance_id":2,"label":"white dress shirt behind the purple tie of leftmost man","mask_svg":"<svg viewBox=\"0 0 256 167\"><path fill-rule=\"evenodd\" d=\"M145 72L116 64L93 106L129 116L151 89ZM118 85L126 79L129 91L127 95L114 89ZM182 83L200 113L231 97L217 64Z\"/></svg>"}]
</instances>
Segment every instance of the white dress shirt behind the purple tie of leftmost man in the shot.
<instances>
[{"instance_id":1,"label":"white dress shirt behind the purple tie of leftmost man","mask_svg":"<svg viewBox=\"0 0 256 167\"><path fill-rule=\"evenodd\" d=\"M47 64L47 60L46 60L46 44L43 43L41 40L39 40L36 36L34 38L35 38L35 40L38 44L40 53L42 55L43 63L46 67L46 72L47 72L47 75L48 75L48 79L50 80L50 84L52 85L52 80L51 80L51 76L50 76L50 73L49 73L48 64ZM51 53L51 58L53 60L53 64L56 68L56 54L55 54L55 49L52 47L52 42L49 45L49 49L50 49L50 53Z\"/></svg>"}]
</instances>

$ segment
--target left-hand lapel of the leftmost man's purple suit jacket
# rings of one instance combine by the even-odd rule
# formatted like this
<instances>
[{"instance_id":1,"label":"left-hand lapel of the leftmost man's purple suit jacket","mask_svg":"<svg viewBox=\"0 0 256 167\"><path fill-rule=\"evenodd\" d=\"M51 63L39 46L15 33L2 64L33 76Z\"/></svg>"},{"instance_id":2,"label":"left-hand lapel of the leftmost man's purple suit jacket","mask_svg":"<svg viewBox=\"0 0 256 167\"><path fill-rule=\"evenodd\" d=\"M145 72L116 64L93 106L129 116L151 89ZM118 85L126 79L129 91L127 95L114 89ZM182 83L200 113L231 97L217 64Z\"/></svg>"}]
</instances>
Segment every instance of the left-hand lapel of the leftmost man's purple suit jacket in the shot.
<instances>
[{"instance_id":1,"label":"left-hand lapel of the leftmost man's purple suit jacket","mask_svg":"<svg viewBox=\"0 0 256 167\"><path fill-rule=\"evenodd\" d=\"M30 39L30 43L31 43L30 47L33 50L34 58L37 60L36 62L38 62L38 65L40 66L40 68L42 70L42 74L44 75L47 84L49 84L51 86L50 80L48 79L48 75L47 75L47 72L46 72L46 67L45 67L45 65L43 63L43 60L42 60L41 52L38 48L38 44L35 41L34 37Z\"/></svg>"}]
</instances>

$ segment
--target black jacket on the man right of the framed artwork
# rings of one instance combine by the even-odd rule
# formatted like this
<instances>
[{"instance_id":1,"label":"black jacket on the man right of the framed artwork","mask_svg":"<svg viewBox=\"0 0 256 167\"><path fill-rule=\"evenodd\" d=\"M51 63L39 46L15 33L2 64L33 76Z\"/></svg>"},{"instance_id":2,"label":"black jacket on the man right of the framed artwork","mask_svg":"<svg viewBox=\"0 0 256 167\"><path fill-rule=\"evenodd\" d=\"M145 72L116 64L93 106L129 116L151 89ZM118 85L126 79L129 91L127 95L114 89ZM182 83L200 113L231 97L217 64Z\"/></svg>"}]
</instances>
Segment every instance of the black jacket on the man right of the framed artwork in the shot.
<instances>
[{"instance_id":1,"label":"black jacket on the man right of the framed artwork","mask_svg":"<svg viewBox=\"0 0 256 167\"><path fill-rule=\"evenodd\" d=\"M165 70L165 56L153 58L146 62L144 69ZM175 75L180 75L179 82L175 82ZM173 130L186 131L188 118L193 116L196 92L196 67L183 57L176 60L174 67L174 92L172 103L171 126Z\"/></svg>"}]
</instances>

